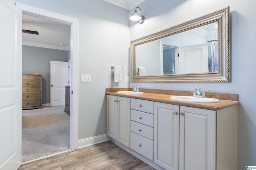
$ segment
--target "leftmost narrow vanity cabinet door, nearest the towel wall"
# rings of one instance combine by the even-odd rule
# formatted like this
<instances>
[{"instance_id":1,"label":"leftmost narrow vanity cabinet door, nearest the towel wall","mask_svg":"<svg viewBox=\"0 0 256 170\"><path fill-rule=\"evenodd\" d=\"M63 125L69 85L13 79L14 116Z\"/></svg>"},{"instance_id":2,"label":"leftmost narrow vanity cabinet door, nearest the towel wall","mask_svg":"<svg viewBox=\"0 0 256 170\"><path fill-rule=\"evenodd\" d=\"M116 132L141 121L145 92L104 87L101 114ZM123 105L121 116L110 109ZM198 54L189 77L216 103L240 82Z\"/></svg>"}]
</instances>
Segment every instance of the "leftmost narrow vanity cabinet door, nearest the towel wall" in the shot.
<instances>
[{"instance_id":1,"label":"leftmost narrow vanity cabinet door, nearest the towel wall","mask_svg":"<svg viewBox=\"0 0 256 170\"><path fill-rule=\"evenodd\" d=\"M107 95L107 135L116 138L117 134L117 96Z\"/></svg>"}]
</instances>

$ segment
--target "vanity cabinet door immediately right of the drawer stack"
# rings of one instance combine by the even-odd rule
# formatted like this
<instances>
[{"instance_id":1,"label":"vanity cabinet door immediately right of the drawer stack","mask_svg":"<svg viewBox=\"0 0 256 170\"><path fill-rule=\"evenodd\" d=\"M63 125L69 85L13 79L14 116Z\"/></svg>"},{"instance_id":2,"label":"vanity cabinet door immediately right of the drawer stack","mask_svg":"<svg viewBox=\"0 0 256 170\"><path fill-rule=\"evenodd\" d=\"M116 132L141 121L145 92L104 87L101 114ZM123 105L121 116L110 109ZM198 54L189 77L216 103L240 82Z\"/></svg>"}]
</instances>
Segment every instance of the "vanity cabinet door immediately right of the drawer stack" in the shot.
<instances>
[{"instance_id":1,"label":"vanity cabinet door immediately right of the drawer stack","mask_svg":"<svg viewBox=\"0 0 256 170\"><path fill-rule=\"evenodd\" d=\"M154 103L154 162L178 170L179 106Z\"/></svg>"}]
</instances>

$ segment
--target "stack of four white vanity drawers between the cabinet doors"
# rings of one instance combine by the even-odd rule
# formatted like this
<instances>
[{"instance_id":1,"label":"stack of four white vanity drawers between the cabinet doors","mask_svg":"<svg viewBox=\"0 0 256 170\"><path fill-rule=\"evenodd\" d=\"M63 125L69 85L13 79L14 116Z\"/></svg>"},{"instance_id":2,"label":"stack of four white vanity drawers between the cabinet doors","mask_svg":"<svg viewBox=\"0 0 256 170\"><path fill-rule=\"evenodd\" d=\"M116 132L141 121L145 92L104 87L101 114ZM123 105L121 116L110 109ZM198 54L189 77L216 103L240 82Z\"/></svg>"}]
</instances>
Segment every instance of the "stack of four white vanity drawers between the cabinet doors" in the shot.
<instances>
[{"instance_id":1,"label":"stack of four white vanity drawers between the cabinet doors","mask_svg":"<svg viewBox=\"0 0 256 170\"><path fill-rule=\"evenodd\" d=\"M130 148L153 161L154 102L131 98Z\"/></svg>"}]
</instances>

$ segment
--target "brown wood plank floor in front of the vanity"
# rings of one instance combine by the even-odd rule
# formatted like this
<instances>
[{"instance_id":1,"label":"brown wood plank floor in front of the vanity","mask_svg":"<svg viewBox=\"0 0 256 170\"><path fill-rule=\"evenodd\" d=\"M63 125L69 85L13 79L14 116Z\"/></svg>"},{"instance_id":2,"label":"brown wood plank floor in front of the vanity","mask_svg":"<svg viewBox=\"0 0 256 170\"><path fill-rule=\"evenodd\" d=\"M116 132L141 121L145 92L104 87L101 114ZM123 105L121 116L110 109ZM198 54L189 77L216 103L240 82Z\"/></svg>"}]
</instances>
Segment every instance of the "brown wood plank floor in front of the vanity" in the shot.
<instances>
[{"instance_id":1,"label":"brown wood plank floor in front of the vanity","mask_svg":"<svg viewBox=\"0 0 256 170\"><path fill-rule=\"evenodd\" d=\"M154 170L112 141L23 164L18 170Z\"/></svg>"}]
</instances>

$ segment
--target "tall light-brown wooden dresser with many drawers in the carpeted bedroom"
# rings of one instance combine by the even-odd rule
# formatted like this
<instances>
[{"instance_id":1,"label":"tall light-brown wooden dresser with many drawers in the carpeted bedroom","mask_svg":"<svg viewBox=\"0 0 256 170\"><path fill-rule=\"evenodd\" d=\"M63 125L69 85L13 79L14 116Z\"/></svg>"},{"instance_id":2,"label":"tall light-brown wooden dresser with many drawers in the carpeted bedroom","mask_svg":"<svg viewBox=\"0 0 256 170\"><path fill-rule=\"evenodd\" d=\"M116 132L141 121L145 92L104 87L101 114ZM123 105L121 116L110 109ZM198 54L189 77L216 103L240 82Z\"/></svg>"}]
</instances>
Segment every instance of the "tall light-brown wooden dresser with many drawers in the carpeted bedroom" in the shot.
<instances>
[{"instance_id":1,"label":"tall light-brown wooden dresser with many drawers in the carpeted bedroom","mask_svg":"<svg viewBox=\"0 0 256 170\"><path fill-rule=\"evenodd\" d=\"M42 108L42 75L22 74L22 110Z\"/></svg>"}]
</instances>

